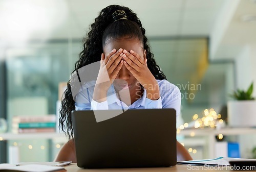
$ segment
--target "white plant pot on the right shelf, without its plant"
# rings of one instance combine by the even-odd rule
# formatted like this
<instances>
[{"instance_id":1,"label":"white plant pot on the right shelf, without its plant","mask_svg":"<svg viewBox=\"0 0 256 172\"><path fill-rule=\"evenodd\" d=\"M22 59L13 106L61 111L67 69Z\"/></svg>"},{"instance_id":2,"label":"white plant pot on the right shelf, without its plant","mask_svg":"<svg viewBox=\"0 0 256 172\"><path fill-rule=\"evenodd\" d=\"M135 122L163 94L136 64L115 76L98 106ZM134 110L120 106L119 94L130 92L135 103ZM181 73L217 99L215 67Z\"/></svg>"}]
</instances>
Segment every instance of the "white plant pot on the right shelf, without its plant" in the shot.
<instances>
[{"instance_id":1,"label":"white plant pot on the right shelf, without its plant","mask_svg":"<svg viewBox=\"0 0 256 172\"><path fill-rule=\"evenodd\" d=\"M227 117L230 127L255 127L256 101L229 101Z\"/></svg>"}]
</instances>

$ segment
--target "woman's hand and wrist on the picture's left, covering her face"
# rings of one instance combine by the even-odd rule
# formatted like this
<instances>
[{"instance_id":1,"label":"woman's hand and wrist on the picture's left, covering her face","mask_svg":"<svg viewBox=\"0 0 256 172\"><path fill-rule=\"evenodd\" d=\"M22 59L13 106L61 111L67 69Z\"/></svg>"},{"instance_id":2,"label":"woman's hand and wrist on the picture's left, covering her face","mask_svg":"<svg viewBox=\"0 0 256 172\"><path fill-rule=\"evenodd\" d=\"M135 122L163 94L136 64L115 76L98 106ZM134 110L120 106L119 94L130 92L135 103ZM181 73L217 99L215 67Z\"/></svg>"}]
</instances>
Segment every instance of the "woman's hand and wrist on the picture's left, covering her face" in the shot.
<instances>
[{"instance_id":1,"label":"woman's hand and wrist on the picture's left, covering her face","mask_svg":"<svg viewBox=\"0 0 256 172\"><path fill-rule=\"evenodd\" d=\"M108 55L101 54L100 69L93 93L96 102L106 101L106 93L122 68L122 48L112 50Z\"/></svg>"}]
</instances>

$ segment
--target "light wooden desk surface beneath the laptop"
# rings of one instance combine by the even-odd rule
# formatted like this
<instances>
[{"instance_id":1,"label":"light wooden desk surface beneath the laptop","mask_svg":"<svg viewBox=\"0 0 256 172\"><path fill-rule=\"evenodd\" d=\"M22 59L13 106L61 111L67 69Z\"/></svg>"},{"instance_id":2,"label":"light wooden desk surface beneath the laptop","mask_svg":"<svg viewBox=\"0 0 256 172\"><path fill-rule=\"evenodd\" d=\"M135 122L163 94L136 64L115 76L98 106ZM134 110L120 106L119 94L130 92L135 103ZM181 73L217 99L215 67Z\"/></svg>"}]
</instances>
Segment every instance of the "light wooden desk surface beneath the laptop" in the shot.
<instances>
[{"instance_id":1,"label":"light wooden desk surface beneath the laptop","mask_svg":"<svg viewBox=\"0 0 256 172\"><path fill-rule=\"evenodd\" d=\"M103 171L131 171L131 172L161 172L161 171L170 171L170 172L186 172L186 171L197 171L197 172L202 172L202 171L217 171L217 170L222 170L223 172L225 171L234 171L234 170L229 170L230 167L205 167L205 166L187 166L187 165L176 165L173 167L165 167L165 168L109 168L109 169L82 169L79 168L75 163L71 165L65 166L65 169L67 169L67 172L75 172L75 171L88 171L88 172L103 172ZM240 170L236 170L240 171ZM256 171L256 170L251 170L251 171Z\"/></svg>"}]
</instances>

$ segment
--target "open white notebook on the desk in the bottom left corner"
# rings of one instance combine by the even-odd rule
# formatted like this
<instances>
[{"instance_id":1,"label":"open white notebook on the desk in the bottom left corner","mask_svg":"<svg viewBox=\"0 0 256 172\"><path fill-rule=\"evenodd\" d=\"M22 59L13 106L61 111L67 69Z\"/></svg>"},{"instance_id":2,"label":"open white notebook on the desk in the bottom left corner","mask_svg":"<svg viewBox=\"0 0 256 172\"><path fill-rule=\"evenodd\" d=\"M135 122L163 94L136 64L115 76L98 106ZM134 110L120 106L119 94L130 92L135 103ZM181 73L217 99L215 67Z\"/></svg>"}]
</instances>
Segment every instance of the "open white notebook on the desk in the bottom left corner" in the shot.
<instances>
[{"instance_id":1,"label":"open white notebook on the desk in the bottom left corner","mask_svg":"<svg viewBox=\"0 0 256 172\"><path fill-rule=\"evenodd\" d=\"M25 171L25 172L51 172L51 171L66 171L62 166L47 166L47 165L13 165L13 164L0 164L0 171Z\"/></svg>"}]
</instances>

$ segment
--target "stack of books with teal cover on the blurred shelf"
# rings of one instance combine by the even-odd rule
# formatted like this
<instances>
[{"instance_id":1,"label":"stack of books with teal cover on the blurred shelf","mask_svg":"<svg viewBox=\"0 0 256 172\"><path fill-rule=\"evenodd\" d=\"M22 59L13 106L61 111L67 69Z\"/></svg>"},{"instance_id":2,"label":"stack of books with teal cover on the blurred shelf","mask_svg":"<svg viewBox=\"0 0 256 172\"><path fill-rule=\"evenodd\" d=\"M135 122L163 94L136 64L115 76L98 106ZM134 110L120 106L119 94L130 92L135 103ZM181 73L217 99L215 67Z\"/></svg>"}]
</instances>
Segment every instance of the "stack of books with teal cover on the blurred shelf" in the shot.
<instances>
[{"instance_id":1,"label":"stack of books with teal cover on the blurred shelf","mask_svg":"<svg viewBox=\"0 0 256 172\"><path fill-rule=\"evenodd\" d=\"M55 132L56 115L13 116L13 133Z\"/></svg>"}]
</instances>

